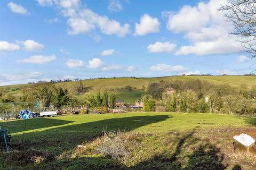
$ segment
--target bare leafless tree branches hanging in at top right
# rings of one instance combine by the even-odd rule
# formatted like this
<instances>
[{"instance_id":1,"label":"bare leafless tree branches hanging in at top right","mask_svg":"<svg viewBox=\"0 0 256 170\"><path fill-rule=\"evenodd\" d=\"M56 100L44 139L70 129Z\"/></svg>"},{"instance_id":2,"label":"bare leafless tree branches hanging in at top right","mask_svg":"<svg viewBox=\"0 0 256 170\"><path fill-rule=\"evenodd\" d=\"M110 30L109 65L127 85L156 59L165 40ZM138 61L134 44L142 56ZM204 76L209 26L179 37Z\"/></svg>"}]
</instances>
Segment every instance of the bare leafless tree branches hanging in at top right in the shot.
<instances>
[{"instance_id":1,"label":"bare leafless tree branches hanging in at top right","mask_svg":"<svg viewBox=\"0 0 256 170\"><path fill-rule=\"evenodd\" d=\"M238 36L245 47L245 52L256 57L256 1L255 0L228 0L219 10L223 11L227 21L234 25L230 32Z\"/></svg>"}]
</instances>

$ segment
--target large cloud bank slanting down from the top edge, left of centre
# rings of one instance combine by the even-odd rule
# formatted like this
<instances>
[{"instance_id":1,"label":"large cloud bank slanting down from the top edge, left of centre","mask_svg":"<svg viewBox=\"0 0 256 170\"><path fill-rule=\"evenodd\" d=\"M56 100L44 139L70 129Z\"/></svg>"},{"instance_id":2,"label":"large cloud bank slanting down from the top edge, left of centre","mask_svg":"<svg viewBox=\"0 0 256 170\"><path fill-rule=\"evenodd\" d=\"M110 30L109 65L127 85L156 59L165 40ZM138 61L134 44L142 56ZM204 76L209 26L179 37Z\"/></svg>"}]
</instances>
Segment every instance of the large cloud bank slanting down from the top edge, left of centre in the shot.
<instances>
[{"instance_id":1,"label":"large cloud bank slanting down from the top edge, left of centre","mask_svg":"<svg viewBox=\"0 0 256 170\"><path fill-rule=\"evenodd\" d=\"M45 5L56 5L61 14L68 18L67 32L69 35L88 34L94 29L100 29L106 35L116 35L119 38L125 37L130 33L130 25L121 24L116 20L111 20L108 16L99 15L86 6L83 6L79 0L62 1L43 1L38 3Z\"/></svg>"}]
</instances>

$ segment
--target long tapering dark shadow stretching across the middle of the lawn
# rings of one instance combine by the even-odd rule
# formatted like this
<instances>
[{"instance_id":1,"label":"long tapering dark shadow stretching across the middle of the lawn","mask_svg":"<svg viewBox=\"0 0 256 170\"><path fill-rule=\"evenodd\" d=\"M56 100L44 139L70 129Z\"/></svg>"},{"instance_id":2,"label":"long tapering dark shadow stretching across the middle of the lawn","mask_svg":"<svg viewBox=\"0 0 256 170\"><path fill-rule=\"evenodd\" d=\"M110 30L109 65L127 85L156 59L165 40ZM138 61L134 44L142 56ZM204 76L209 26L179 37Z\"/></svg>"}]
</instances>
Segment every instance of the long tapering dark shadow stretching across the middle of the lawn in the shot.
<instances>
[{"instance_id":1,"label":"long tapering dark shadow stretching across the middle of the lawn","mask_svg":"<svg viewBox=\"0 0 256 170\"><path fill-rule=\"evenodd\" d=\"M126 129L126 131L130 131L151 123L164 121L166 118L170 118L170 116L155 115L110 118L107 120L66 125L45 131L26 133L24 138L24 148L15 149L25 150L35 148L58 155L61 152L75 148L84 141L95 139L95 136L102 134L103 128L107 127L108 131L117 129ZM47 120L51 121L51 119ZM21 137L22 135L14 135L14 143L17 144Z\"/></svg>"}]
</instances>

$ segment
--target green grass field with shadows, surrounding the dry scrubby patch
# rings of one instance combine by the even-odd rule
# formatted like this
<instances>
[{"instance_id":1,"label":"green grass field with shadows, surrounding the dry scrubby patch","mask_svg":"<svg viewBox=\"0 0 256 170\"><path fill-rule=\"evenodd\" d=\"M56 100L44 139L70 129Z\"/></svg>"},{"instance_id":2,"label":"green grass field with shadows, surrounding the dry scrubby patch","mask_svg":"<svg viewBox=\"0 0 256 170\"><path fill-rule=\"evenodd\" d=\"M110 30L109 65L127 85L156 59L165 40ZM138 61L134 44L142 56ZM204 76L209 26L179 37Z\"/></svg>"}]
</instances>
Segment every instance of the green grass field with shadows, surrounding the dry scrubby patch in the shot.
<instances>
[{"instance_id":1,"label":"green grass field with shadows, surrounding the dry scrubby patch","mask_svg":"<svg viewBox=\"0 0 256 170\"><path fill-rule=\"evenodd\" d=\"M255 157L233 151L233 135L256 129L256 117L196 113L125 113L63 115L0 122L12 135L14 150L0 154L0 169L242 169L255 168ZM134 159L79 152L103 128L140 134ZM131 131L131 132L130 132ZM75 152L75 154L74 154ZM31 155L44 155L41 163Z\"/></svg>"}]
</instances>

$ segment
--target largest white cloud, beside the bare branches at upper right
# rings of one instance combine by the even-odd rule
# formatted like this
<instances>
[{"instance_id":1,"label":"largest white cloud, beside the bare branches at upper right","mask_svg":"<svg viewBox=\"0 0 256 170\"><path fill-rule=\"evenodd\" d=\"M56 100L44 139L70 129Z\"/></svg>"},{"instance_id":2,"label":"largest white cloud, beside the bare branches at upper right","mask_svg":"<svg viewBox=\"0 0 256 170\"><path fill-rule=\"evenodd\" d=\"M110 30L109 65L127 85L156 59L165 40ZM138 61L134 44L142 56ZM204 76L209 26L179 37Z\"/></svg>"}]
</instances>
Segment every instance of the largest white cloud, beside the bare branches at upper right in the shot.
<instances>
[{"instance_id":1,"label":"largest white cloud, beside the bare branches at upper right","mask_svg":"<svg viewBox=\"0 0 256 170\"><path fill-rule=\"evenodd\" d=\"M191 44L180 47L175 54L229 54L243 49L236 37L228 33L233 30L233 25L218 11L225 2L210 0L196 6L185 5L178 12L162 12L163 18L167 19L167 29L184 33Z\"/></svg>"}]
</instances>

